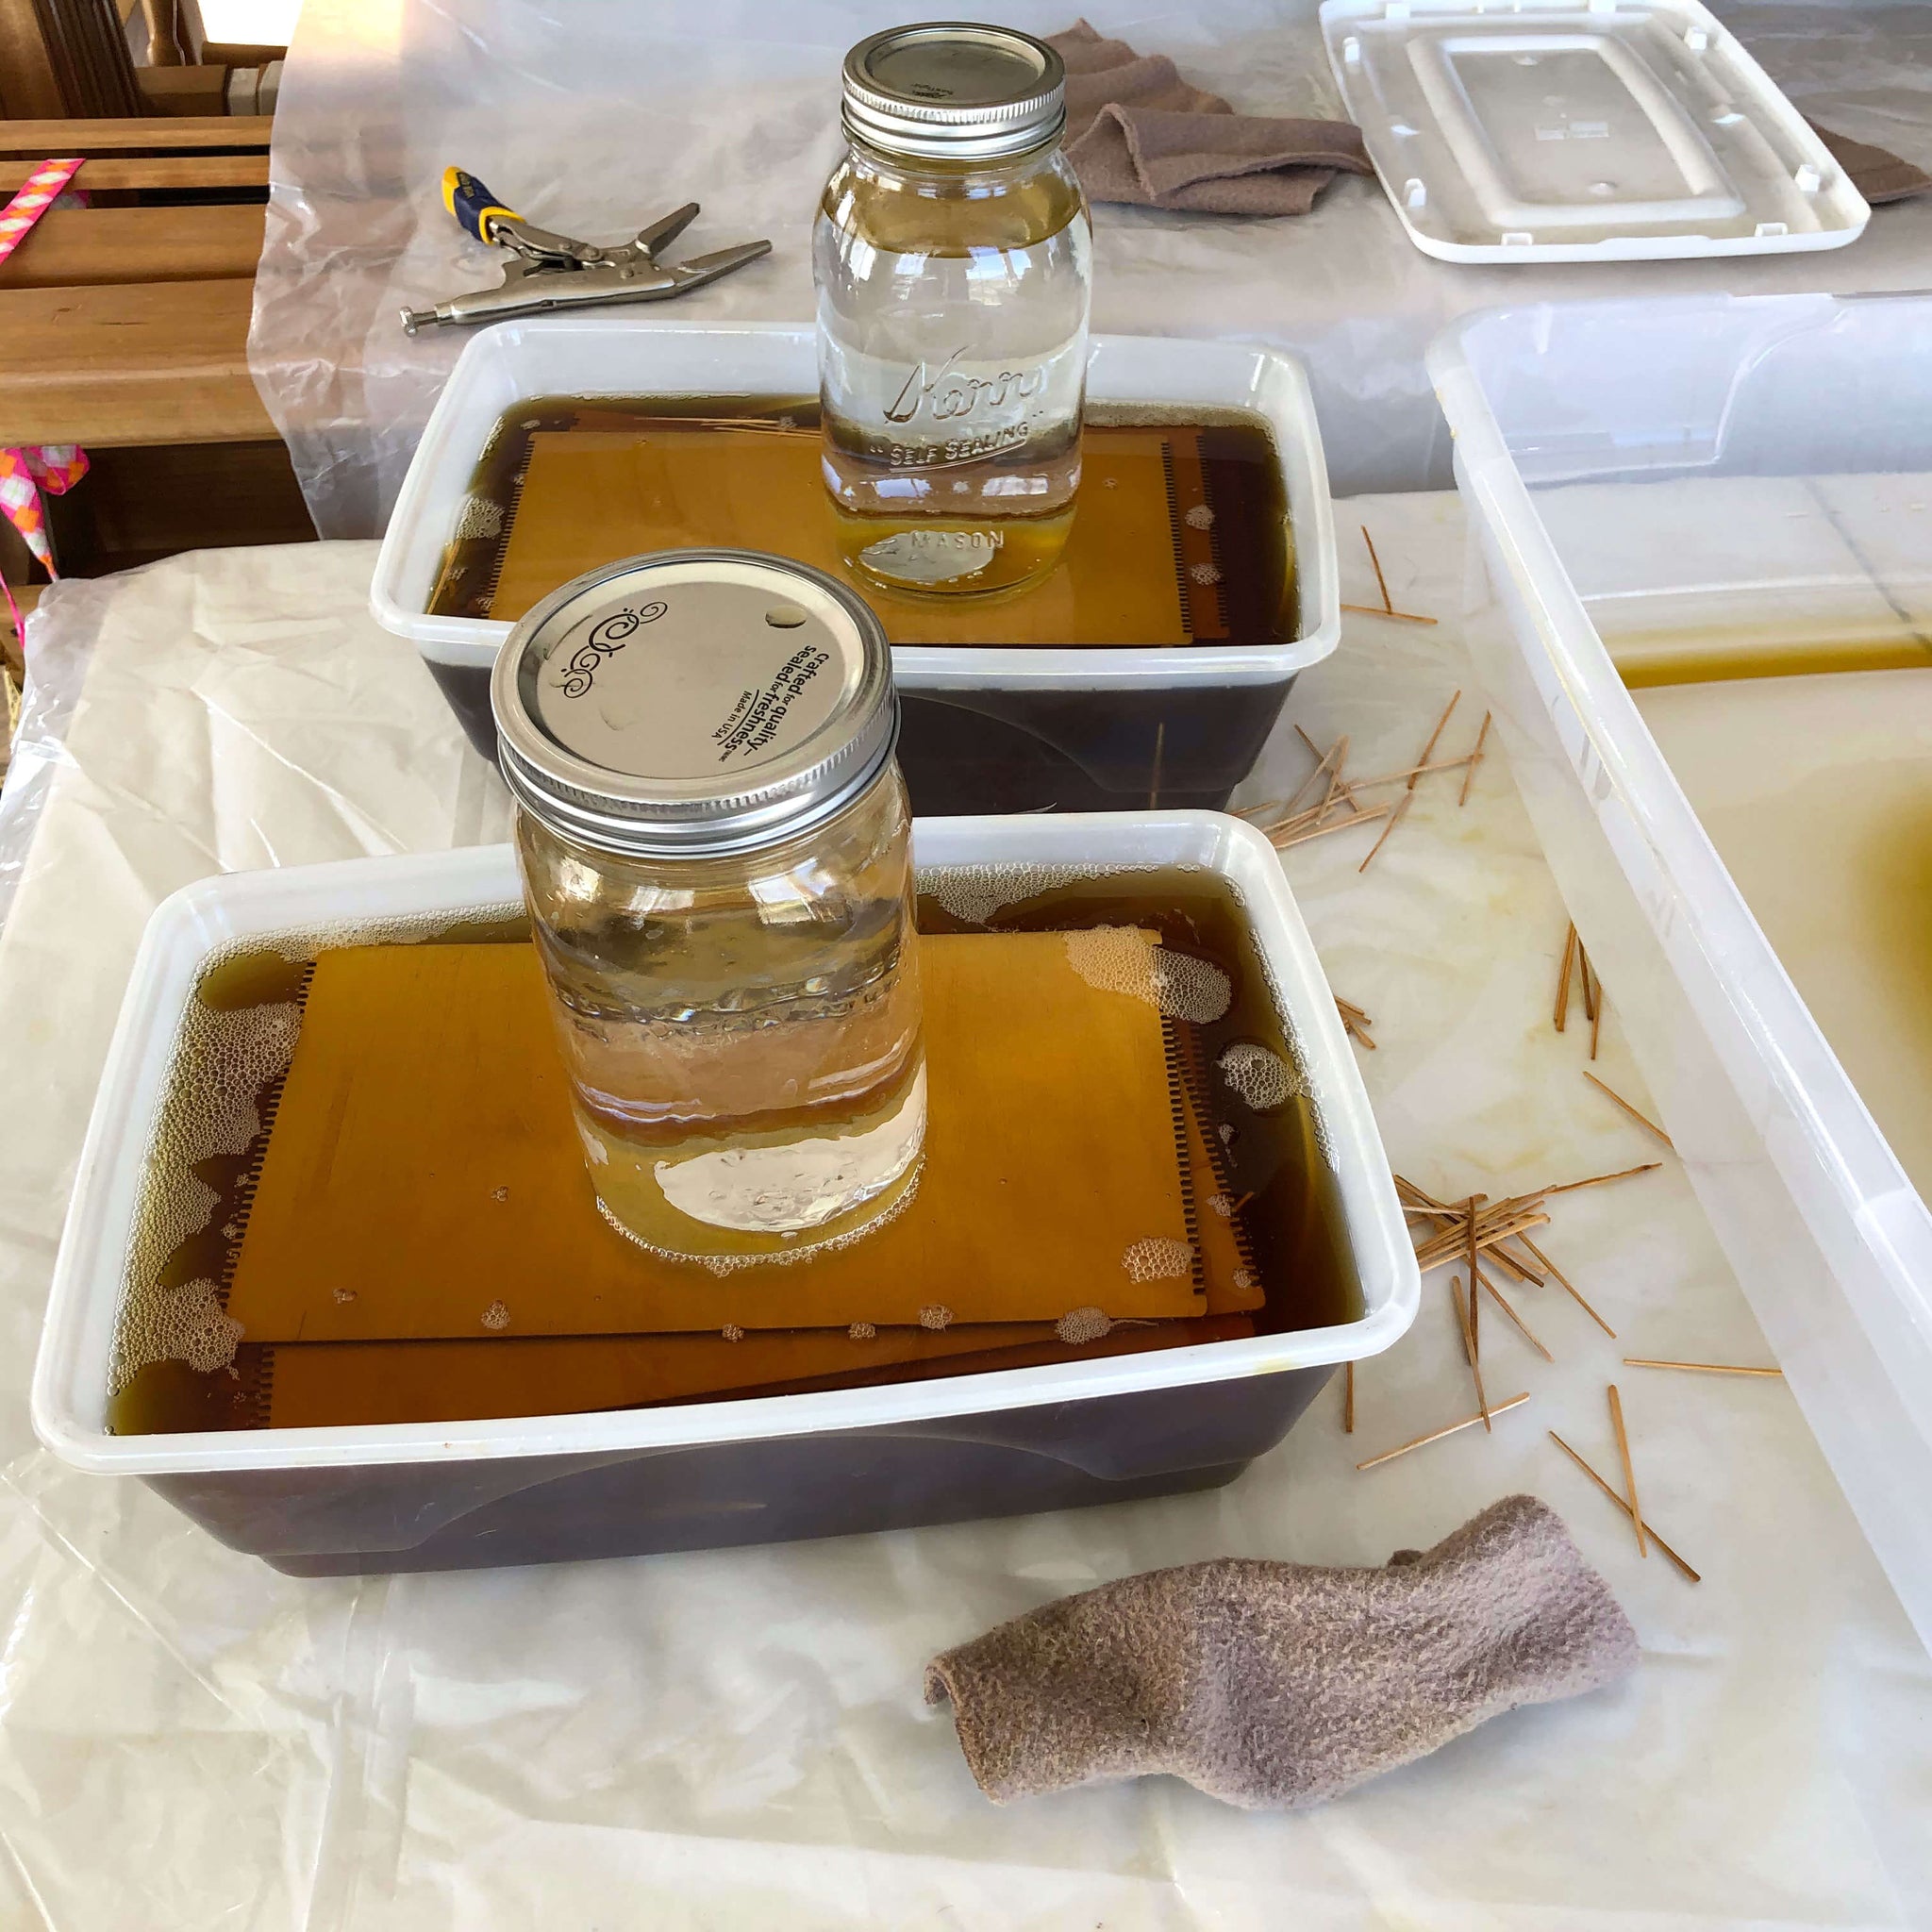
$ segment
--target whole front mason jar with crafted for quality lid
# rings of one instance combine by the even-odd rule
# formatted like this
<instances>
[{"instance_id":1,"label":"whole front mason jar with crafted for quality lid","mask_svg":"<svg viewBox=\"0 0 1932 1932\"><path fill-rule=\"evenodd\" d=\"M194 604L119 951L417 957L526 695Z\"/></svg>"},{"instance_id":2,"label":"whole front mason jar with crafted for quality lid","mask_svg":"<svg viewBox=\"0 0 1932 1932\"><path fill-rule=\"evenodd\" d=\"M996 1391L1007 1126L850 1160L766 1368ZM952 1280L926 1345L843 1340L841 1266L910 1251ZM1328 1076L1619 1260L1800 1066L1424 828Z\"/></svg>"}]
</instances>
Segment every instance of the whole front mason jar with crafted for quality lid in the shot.
<instances>
[{"instance_id":1,"label":"whole front mason jar with crafted for quality lid","mask_svg":"<svg viewBox=\"0 0 1932 1932\"><path fill-rule=\"evenodd\" d=\"M539 603L491 699L597 1206L723 1271L910 1200L925 1053L873 614L744 551Z\"/></svg>"}]
</instances>

